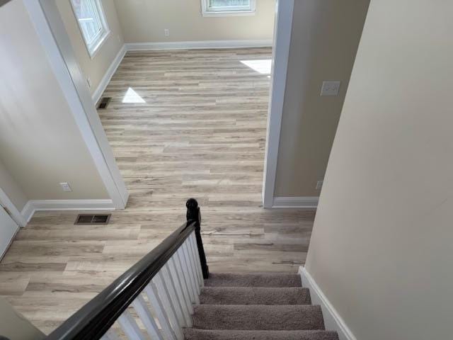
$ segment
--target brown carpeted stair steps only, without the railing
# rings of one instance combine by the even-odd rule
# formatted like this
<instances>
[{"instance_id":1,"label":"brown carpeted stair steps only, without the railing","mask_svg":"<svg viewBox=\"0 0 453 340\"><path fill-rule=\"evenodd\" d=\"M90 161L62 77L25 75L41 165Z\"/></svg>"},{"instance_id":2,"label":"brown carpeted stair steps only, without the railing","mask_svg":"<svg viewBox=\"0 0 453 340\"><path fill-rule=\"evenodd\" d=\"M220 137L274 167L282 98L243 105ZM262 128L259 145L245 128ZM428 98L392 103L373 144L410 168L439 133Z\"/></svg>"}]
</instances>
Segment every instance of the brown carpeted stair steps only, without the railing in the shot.
<instances>
[{"instance_id":1,"label":"brown carpeted stair steps only, without the railing","mask_svg":"<svg viewBox=\"0 0 453 340\"><path fill-rule=\"evenodd\" d=\"M338 340L291 273L212 273L185 340Z\"/></svg>"}]
</instances>

